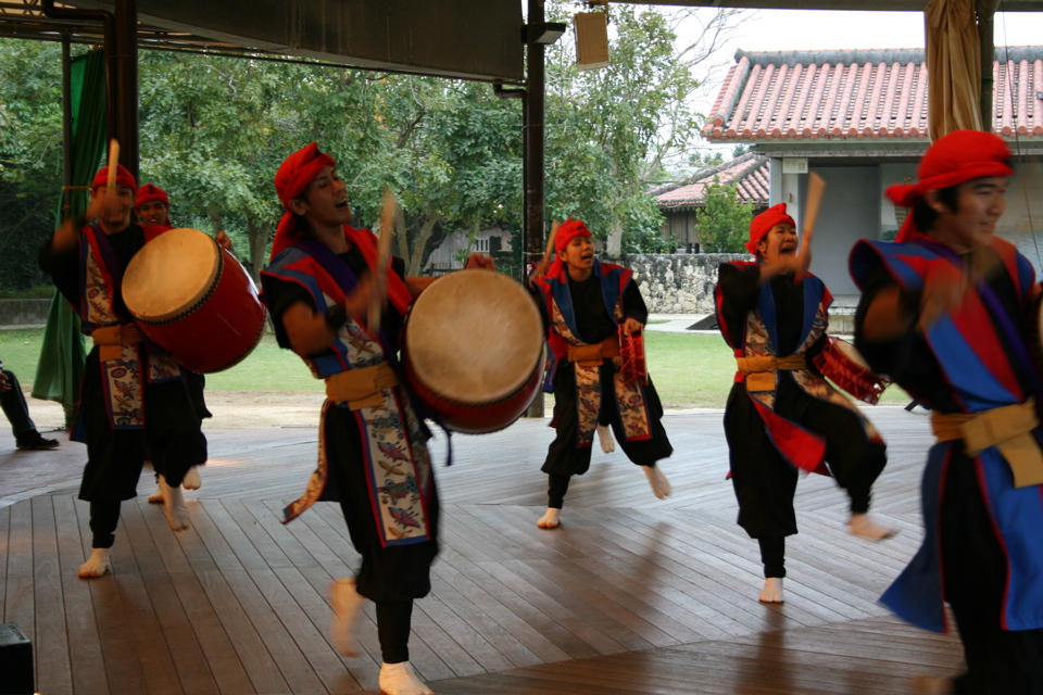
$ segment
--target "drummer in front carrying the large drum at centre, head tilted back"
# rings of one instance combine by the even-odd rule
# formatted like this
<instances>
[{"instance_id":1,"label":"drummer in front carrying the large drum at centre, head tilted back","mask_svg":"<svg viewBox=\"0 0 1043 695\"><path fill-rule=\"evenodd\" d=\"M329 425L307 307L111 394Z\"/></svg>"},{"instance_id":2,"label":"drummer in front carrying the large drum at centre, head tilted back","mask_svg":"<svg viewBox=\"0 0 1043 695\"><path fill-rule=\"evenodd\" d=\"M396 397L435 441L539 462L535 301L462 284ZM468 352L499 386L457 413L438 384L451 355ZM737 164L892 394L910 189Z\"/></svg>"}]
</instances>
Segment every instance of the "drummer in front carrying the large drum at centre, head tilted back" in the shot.
<instances>
[{"instance_id":1,"label":"drummer in front carrying the large drum at centre, head tilted back","mask_svg":"<svg viewBox=\"0 0 1043 695\"><path fill-rule=\"evenodd\" d=\"M286 521L319 500L340 502L362 567L330 584L334 647L356 654L353 626L368 598L376 604L381 693L430 693L410 665L409 640L413 602L431 590L438 493L425 444L430 434L391 365L403 316L433 278L406 278L404 262L391 258L380 329L368 332L376 237L349 226L348 189L336 166L314 142L279 166L275 190L286 214L261 274L279 345L326 380L318 468ZM468 267L492 267L492 260L474 254Z\"/></svg>"}]
</instances>

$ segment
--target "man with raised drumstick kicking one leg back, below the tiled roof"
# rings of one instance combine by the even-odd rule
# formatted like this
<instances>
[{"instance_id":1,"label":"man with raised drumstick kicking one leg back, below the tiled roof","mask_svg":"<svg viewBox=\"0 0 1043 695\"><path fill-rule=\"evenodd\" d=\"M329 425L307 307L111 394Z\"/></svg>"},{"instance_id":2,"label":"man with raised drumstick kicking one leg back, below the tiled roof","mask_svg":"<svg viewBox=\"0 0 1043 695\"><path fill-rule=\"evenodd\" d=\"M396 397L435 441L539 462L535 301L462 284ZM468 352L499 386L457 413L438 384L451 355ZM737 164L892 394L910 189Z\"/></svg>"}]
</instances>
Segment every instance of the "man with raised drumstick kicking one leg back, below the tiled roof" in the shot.
<instances>
[{"instance_id":1,"label":"man with raised drumstick kicking one leg back, below the tiled roof","mask_svg":"<svg viewBox=\"0 0 1043 695\"><path fill-rule=\"evenodd\" d=\"M786 536L796 533L799 471L837 478L851 497L852 533L874 541L891 534L868 514L887 450L869 421L814 366L828 344L832 298L807 273L810 255L799 253L797 245L786 203L770 207L750 224L746 249L756 258L722 264L714 292L717 324L739 366L725 434L739 526L761 546L763 603L783 602Z\"/></svg>"}]
</instances>

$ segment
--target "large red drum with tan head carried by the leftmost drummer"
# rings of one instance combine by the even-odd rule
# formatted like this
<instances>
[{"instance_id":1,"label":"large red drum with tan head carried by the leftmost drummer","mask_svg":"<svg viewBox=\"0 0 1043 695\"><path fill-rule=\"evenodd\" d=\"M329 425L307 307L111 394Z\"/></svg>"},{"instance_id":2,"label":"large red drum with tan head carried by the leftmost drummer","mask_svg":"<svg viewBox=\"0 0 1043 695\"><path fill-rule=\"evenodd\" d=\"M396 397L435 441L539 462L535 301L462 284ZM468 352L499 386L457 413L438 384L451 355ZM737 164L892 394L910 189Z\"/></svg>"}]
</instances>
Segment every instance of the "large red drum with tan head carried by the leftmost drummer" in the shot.
<instances>
[{"instance_id":1,"label":"large red drum with tan head carried by the leftmost drummer","mask_svg":"<svg viewBox=\"0 0 1043 695\"><path fill-rule=\"evenodd\" d=\"M264 334L250 275L197 229L171 229L144 244L127 265L123 298L141 331L192 371L238 364Z\"/></svg>"}]
</instances>

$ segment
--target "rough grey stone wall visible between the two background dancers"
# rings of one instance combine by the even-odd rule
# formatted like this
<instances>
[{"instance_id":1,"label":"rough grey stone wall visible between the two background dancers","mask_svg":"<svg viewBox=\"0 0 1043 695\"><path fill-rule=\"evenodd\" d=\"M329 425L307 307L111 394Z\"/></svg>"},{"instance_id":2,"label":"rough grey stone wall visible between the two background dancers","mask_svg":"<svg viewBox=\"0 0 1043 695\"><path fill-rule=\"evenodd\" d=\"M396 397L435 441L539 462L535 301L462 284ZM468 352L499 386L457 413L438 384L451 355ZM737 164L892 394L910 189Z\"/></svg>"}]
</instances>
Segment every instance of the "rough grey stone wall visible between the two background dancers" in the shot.
<instances>
[{"instance_id":1,"label":"rough grey stone wall visible between the two background dancers","mask_svg":"<svg viewBox=\"0 0 1043 695\"><path fill-rule=\"evenodd\" d=\"M713 314L718 266L749 257L730 253L629 254L619 265L633 270L649 313Z\"/></svg>"}]
</instances>

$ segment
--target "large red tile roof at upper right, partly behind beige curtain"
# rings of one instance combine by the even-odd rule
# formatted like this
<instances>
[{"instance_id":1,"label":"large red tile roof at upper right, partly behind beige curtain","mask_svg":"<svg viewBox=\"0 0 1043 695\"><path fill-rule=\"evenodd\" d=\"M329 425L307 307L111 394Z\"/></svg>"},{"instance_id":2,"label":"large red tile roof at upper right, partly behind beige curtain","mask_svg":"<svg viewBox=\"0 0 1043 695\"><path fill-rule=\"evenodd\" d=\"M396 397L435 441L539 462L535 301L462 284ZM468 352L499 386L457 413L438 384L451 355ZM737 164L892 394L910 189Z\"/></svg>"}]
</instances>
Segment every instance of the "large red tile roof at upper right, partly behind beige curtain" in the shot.
<instances>
[{"instance_id":1,"label":"large red tile roof at upper right, partly behind beige curtain","mask_svg":"<svg viewBox=\"0 0 1043 695\"><path fill-rule=\"evenodd\" d=\"M1043 137L1043 47L997 47L994 130ZM711 141L927 140L923 49L736 52L703 136Z\"/></svg>"}]
</instances>

